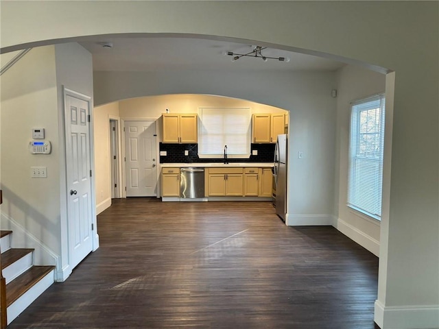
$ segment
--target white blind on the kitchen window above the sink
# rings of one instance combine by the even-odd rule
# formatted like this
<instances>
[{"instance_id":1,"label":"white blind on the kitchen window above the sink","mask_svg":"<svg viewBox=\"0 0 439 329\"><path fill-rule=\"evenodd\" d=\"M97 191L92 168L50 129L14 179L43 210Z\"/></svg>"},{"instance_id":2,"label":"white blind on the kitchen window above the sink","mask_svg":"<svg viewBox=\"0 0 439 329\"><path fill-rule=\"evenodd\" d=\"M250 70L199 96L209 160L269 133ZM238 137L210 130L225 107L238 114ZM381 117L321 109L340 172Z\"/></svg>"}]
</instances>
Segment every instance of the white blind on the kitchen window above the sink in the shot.
<instances>
[{"instance_id":1,"label":"white blind on the kitchen window above the sink","mask_svg":"<svg viewBox=\"0 0 439 329\"><path fill-rule=\"evenodd\" d=\"M198 155L231 158L250 156L250 108L200 108Z\"/></svg>"}]
</instances>

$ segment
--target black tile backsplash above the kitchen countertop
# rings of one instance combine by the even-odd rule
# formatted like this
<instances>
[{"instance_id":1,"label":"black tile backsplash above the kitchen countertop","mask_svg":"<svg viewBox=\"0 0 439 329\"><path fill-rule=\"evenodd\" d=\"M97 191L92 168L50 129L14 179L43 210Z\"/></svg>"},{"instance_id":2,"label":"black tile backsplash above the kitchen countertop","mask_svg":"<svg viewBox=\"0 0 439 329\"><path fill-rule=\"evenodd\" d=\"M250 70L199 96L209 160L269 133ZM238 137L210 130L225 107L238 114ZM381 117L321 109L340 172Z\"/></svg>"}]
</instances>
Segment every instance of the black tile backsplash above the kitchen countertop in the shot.
<instances>
[{"instance_id":1,"label":"black tile backsplash above the kitchen countertop","mask_svg":"<svg viewBox=\"0 0 439 329\"><path fill-rule=\"evenodd\" d=\"M250 158L228 158L228 162L273 162L275 144L252 144L252 151L257 150L258 155ZM160 163L200 163L223 162L222 158L198 158L198 144L171 144L160 143L160 151L166 151L166 156L160 156ZM188 156L185 156L188 151Z\"/></svg>"}]
</instances>

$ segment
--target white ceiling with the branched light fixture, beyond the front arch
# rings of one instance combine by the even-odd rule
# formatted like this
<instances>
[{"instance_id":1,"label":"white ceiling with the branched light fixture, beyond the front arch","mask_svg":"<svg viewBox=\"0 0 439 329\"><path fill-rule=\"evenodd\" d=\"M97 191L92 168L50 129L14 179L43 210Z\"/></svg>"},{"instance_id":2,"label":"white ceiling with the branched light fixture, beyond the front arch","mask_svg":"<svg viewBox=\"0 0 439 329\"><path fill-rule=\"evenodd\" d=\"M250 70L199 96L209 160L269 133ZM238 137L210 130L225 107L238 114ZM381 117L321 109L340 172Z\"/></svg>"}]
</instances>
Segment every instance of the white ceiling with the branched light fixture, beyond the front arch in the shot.
<instances>
[{"instance_id":1,"label":"white ceiling with the branched light fixture, beyond the front arch","mask_svg":"<svg viewBox=\"0 0 439 329\"><path fill-rule=\"evenodd\" d=\"M110 42L112 48L102 44ZM232 62L226 51L248 53L252 45L199 38L106 38L80 42L93 54L93 71L336 71L344 63L281 49L263 55L288 57L290 62L244 57Z\"/></svg>"}]
</instances>

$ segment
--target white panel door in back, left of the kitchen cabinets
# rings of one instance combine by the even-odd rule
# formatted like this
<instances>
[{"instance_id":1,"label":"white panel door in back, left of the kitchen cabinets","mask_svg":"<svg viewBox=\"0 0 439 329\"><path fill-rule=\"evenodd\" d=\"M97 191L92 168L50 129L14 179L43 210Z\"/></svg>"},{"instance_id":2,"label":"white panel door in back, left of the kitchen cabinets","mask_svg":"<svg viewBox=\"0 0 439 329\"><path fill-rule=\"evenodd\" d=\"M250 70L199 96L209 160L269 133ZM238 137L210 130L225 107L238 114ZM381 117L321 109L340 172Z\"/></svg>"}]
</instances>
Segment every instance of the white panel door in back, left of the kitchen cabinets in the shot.
<instances>
[{"instance_id":1,"label":"white panel door in back, left of the kitchen cabinets","mask_svg":"<svg viewBox=\"0 0 439 329\"><path fill-rule=\"evenodd\" d=\"M125 121L125 154L126 196L156 196L155 121Z\"/></svg>"}]
</instances>

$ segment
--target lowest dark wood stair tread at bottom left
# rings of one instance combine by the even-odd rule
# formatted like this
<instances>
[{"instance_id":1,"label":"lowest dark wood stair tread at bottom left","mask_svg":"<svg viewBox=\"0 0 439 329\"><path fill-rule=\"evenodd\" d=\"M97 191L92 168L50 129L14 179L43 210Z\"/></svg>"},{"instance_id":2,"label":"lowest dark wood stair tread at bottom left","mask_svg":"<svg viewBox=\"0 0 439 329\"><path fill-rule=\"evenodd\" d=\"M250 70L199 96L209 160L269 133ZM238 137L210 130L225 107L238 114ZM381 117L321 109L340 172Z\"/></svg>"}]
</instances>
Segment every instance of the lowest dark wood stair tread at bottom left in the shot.
<instances>
[{"instance_id":1,"label":"lowest dark wood stair tread at bottom left","mask_svg":"<svg viewBox=\"0 0 439 329\"><path fill-rule=\"evenodd\" d=\"M6 284L6 305L10 306L19 299L26 291L43 279L54 266L33 266L25 273Z\"/></svg>"}]
</instances>

